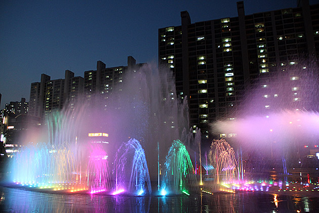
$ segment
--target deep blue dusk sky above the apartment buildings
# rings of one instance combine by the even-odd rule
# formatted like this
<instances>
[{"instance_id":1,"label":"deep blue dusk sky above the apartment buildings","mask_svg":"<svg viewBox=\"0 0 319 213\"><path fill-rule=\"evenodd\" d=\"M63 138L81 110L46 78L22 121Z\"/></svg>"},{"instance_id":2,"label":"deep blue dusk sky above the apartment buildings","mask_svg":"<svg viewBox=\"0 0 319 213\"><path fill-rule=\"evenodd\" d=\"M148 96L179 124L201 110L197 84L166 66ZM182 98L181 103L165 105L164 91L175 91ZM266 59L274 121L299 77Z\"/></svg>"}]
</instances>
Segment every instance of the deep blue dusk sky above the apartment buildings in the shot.
<instances>
[{"instance_id":1,"label":"deep blue dusk sky above the apartment buildings","mask_svg":"<svg viewBox=\"0 0 319 213\"><path fill-rule=\"evenodd\" d=\"M41 74L64 78L107 67L157 63L157 30L191 22L237 16L236 0L224 1L15 1L0 2L0 93L5 103L29 100L30 84ZM310 4L316 4L310 0ZM297 0L245 0L245 13L294 8Z\"/></svg>"}]
</instances>

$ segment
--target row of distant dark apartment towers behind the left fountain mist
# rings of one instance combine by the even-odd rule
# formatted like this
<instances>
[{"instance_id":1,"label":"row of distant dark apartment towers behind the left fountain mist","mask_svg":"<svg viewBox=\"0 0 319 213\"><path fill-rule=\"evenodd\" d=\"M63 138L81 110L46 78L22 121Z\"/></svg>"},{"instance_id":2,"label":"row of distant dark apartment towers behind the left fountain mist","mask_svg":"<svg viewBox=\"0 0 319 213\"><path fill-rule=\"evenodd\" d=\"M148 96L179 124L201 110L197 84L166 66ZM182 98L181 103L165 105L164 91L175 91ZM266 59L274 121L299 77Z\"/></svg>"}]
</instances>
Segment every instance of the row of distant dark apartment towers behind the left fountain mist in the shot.
<instances>
[{"instance_id":1,"label":"row of distant dark apartment towers behind the left fountain mist","mask_svg":"<svg viewBox=\"0 0 319 213\"><path fill-rule=\"evenodd\" d=\"M127 70L142 65L136 64L136 60L129 56L127 66L106 67L105 63L98 61L97 69L85 71L84 78L74 77L70 70L65 70L64 79L51 80L50 76L42 74L41 82L31 83L29 115L44 118L66 106L72 110L84 100L93 103L95 96L98 96L97 100L107 99L115 88L121 89Z\"/></svg>"}]
</instances>

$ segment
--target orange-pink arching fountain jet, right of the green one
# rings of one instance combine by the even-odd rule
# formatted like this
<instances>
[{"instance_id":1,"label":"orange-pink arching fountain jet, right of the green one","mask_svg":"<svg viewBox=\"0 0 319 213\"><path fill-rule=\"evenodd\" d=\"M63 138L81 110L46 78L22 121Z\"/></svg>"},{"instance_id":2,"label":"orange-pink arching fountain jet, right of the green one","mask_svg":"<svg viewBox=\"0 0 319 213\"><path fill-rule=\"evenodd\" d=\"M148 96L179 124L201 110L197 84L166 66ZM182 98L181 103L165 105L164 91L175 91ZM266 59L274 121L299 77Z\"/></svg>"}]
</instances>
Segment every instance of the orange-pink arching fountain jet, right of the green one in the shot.
<instances>
[{"instance_id":1,"label":"orange-pink arching fountain jet, right of the green one","mask_svg":"<svg viewBox=\"0 0 319 213\"><path fill-rule=\"evenodd\" d=\"M214 139L212 141L209 159L216 168L216 182L219 184L220 176L223 175L224 180L233 180L237 162L233 148L225 139Z\"/></svg>"}]
</instances>

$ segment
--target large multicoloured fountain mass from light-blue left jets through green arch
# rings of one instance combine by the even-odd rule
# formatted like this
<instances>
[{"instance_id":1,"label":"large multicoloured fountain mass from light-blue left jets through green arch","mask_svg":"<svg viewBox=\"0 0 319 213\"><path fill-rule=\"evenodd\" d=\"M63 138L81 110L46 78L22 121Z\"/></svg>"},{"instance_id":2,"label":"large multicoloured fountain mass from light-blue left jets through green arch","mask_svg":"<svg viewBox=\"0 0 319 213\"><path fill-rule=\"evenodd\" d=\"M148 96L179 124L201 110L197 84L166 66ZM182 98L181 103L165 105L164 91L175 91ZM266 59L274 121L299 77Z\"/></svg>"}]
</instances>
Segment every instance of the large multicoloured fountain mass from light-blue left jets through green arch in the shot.
<instances>
[{"instance_id":1,"label":"large multicoloured fountain mass from light-blue left jets through green arch","mask_svg":"<svg viewBox=\"0 0 319 213\"><path fill-rule=\"evenodd\" d=\"M185 130L187 100L178 98L172 73L145 65L128 71L123 82L107 98L96 94L92 103L51 113L38 132L31 132L37 139L25 137L9 166L9 181L61 193L141 196L152 194L155 183L173 194L198 192L186 150L194 141ZM89 132L108 132L107 144L92 143ZM200 135L194 147L198 140ZM176 175L162 174L161 165Z\"/></svg>"}]
</instances>

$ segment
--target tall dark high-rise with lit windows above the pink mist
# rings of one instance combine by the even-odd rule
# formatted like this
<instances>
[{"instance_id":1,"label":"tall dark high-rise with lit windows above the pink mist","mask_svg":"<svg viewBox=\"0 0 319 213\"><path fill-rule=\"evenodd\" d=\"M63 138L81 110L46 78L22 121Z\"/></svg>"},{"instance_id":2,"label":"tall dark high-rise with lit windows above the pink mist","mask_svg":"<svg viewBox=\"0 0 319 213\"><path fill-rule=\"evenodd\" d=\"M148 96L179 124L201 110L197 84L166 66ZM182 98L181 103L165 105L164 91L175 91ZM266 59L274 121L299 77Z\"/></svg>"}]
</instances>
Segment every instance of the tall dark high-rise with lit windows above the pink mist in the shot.
<instances>
[{"instance_id":1,"label":"tall dark high-rise with lit windows above the pink mist","mask_svg":"<svg viewBox=\"0 0 319 213\"><path fill-rule=\"evenodd\" d=\"M268 91L271 82L319 54L319 5L300 0L296 8L245 15L244 2L237 2L237 11L196 23L183 11L180 26L158 29L159 64L173 70L178 95L189 101L190 124L206 137L209 123L234 119L252 89L264 88L267 101L277 98ZM288 81L299 79L292 75ZM289 90L291 101L298 100L298 87Z\"/></svg>"}]
</instances>

